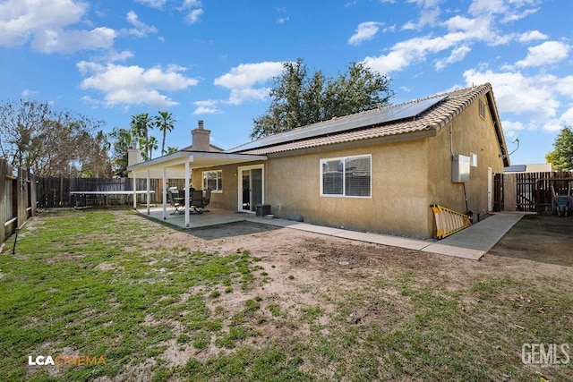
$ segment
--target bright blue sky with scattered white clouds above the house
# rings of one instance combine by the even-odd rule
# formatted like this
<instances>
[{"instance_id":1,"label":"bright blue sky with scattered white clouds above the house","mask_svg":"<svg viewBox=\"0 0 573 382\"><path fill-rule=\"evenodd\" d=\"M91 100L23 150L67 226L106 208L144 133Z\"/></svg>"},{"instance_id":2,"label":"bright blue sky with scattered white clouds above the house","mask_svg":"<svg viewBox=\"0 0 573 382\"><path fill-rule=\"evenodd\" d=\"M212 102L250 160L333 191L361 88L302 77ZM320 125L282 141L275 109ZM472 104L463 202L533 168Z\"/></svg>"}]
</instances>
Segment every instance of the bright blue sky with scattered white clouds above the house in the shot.
<instances>
[{"instance_id":1,"label":"bright blue sky with scattered white clouds above the house","mask_svg":"<svg viewBox=\"0 0 573 382\"><path fill-rule=\"evenodd\" d=\"M0 0L0 100L49 101L106 132L168 110L167 146L191 144L201 119L229 149L281 63L336 76L363 62L393 103L492 83L512 164L543 163L573 125L571 14L569 0Z\"/></svg>"}]
</instances>

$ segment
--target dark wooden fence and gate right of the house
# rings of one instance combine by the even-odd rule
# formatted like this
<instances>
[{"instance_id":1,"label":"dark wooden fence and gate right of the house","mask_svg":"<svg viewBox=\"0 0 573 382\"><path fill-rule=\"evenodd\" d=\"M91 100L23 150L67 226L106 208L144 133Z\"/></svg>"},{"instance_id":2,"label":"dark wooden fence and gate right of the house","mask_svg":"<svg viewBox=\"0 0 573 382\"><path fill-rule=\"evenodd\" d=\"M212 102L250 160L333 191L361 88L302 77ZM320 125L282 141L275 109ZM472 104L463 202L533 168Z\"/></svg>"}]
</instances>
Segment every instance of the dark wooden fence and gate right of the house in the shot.
<instances>
[{"instance_id":1,"label":"dark wooden fence and gate right of the house","mask_svg":"<svg viewBox=\"0 0 573 382\"><path fill-rule=\"evenodd\" d=\"M571 182L570 172L498 174L494 181L494 210L551 213L552 189L566 195Z\"/></svg>"}]
</instances>

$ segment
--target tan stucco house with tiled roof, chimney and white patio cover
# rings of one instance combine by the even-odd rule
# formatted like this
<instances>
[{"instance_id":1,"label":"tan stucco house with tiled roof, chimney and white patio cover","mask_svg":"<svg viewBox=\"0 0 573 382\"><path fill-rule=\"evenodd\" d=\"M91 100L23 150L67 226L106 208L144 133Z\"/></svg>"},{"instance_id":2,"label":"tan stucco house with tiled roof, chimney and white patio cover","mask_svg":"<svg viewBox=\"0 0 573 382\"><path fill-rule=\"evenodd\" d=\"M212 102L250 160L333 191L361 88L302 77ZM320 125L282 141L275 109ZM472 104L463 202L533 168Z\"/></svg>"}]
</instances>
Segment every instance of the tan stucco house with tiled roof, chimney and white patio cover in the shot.
<instances>
[{"instance_id":1,"label":"tan stucco house with tiled roof, chimney and white patio cover","mask_svg":"<svg viewBox=\"0 0 573 382\"><path fill-rule=\"evenodd\" d=\"M212 190L213 208L253 213L264 204L277 217L419 238L435 234L433 204L464 213L491 211L493 174L509 166L489 83L222 152L210 150L202 123L193 132L202 143L193 138L191 149L128 170L164 179L168 171L180 171L196 188Z\"/></svg>"}]
</instances>

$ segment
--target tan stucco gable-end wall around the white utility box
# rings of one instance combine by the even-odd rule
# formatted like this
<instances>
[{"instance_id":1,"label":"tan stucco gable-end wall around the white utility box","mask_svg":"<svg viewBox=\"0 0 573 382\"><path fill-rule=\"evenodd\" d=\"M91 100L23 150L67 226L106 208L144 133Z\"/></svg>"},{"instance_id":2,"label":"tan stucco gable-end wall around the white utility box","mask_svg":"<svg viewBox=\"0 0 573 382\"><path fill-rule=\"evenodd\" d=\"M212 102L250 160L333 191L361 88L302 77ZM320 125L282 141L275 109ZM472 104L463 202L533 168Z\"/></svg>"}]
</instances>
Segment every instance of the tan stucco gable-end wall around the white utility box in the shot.
<instances>
[{"instance_id":1,"label":"tan stucco gable-end wall around the white utility box","mask_svg":"<svg viewBox=\"0 0 573 382\"><path fill-rule=\"evenodd\" d=\"M487 99L481 99L487 105ZM470 168L470 181L466 183L467 208L463 183L451 182L449 128L430 140L428 197L431 204L440 204L462 213L469 209L483 215L488 209L488 167L492 168L493 174L499 174L503 172L503 160L489 108L486 107L485 119L479 116L478 109L476 101L451 124L454 154L477 155L478 166ZM432 220L429 225L432 225ZM432 226L432 233L434 229Z\"/></svg>"}]
</instances>

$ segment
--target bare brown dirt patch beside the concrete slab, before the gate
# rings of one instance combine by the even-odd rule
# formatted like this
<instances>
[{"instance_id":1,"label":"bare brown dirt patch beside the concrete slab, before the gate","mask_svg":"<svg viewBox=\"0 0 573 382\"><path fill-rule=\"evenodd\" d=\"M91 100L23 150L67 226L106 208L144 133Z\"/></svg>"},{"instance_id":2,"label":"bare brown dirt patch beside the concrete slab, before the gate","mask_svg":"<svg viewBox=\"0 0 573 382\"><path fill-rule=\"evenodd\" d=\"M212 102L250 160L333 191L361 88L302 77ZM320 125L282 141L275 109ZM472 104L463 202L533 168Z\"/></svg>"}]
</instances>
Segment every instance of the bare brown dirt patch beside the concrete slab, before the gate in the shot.
<instances>
[{"instance_id":1,"label":"bare brown dirt patch beside the concrete slab, before the gate","mask_svg":"<svg viewBox=\"0 0 573 382\"><path fill-rule=\"evenodd\" d=\"M488 253L573 267L573 216L526 215Z\"/></svg>"}]
</instances>

